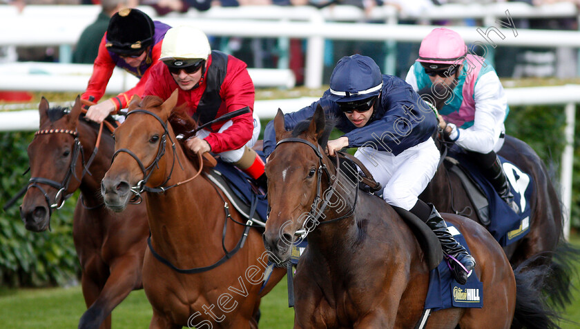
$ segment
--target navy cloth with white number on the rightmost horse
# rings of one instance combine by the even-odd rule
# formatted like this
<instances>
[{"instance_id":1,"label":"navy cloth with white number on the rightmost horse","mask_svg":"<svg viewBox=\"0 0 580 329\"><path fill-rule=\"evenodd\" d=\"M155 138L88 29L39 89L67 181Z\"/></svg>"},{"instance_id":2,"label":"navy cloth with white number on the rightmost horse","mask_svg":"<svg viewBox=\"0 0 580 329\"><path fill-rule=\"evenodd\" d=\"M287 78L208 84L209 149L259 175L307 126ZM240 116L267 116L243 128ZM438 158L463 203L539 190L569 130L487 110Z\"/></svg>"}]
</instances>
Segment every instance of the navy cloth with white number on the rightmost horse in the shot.
<instances>
[{"instance_id":1,"label":"navy cloth with white number on the rightmost horse","mask_svg":"<svg viewBox=\"0 0 580 329\"><path fill-rule=\"evenodd\" d=\"M508 246L530 232L530 200L534 185L531 175L523 172L514 163L499 157L503 171L510 181L514 201L521 209L516 214L483 177L478 166L465 154L453 152L449 157L455 160L447 161L452 164L449 169L461 179L481 223L501 246Z\"/></svg>"}]
</instances>

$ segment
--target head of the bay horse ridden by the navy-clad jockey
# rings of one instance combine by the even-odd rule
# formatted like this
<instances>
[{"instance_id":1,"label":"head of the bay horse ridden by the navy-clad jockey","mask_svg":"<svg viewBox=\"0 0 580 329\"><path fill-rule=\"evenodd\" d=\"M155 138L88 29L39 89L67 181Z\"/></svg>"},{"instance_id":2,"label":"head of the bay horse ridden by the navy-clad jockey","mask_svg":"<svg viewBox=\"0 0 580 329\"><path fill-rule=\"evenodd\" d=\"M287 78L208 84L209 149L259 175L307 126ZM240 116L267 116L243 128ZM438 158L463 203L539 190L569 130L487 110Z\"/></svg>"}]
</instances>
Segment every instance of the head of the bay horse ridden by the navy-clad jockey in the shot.
<instances>
[{"instance_id":1,"label":"head of the bay horse ridden by the navy-clad jockey","mask_svg":"<svg viewBox=\"0 0 580 329\"><path fill-rule=\"evenodd\" d=\"M328 180L322 179L328 172L322 168L330 164L324 149L331 127L325 129L325 114L319 106L310 122L300 123L292 132L284 129L284 114L278 110L274 128L277 144L266 164L270 212L263 239L269 252L286 261L296 232L312 219L316 223L312 210L318 206L320 191L328 186Z\"/></svg>"}]
</instances>

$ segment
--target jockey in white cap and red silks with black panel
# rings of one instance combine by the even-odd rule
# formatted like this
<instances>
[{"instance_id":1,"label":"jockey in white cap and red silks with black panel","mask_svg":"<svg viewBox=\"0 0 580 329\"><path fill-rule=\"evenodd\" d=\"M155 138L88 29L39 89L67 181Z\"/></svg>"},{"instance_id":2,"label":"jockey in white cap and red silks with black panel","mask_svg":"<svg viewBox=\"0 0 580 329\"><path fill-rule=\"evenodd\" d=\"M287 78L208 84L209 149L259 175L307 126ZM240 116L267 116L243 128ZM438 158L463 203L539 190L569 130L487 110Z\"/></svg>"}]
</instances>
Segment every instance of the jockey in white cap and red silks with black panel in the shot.
<instances>
[{"instance_id":1,"label":"jockey in white cap and red silks with black panel","mask_svg":"<svg viewBox=\"0 0 580 329\"><path fill-rule=\"evenodd\" d=\"M252 113L200 130L186 146L193 152L220 154L223 161L233 163L265 187L264 161L251 148L260 134L260 120L253 112L254 86L246 63L212 51L204 32L190 26L168 30L160 61L151 68L144 95L168 99L179 88L177 106L185 103L200 124L250 108Z\"/></svg>"}]
</instances>

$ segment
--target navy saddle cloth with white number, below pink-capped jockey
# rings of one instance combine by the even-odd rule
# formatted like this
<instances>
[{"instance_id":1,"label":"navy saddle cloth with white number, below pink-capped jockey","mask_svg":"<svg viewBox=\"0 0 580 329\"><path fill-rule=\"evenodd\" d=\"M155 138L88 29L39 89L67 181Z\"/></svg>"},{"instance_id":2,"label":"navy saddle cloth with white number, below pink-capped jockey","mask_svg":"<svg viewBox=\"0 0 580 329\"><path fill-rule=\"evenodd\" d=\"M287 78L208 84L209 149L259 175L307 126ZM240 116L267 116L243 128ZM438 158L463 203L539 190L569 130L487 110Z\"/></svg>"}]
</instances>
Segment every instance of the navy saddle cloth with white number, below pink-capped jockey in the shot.
<instances>
[{"instance_id":1,"label":"navy saddle cloth with white number, below pink-capped jockey","mask_svg":"<svg viewBox=\"0 0 580 329\"><path fill-rule=\"evenodd\" d=\"M518 241L530 232L530 214L532 208L530 200L534 181L532 176L523 172L510 161L499 157L503 171L510 181L510 188L514 195L514 201L520 207L520 213L516 214L508 203L505 203L497 194L492 184L483 177L479 167L473 163L463 152L450 152L448 157L456 159L463 171L479 186L489 202L490 223L487 230L501 246L508 246Z\"/></svg>"}]
</instances>

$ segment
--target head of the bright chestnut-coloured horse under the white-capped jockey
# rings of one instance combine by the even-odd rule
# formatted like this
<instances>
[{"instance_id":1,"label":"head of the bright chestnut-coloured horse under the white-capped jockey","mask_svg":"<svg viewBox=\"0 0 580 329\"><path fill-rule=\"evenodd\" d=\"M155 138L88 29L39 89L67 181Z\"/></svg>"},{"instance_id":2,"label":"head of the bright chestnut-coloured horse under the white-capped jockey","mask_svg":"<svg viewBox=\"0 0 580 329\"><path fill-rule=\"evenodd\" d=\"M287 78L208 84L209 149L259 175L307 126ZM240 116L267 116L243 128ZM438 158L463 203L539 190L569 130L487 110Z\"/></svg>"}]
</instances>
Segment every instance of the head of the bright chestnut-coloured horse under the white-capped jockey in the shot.
<instances>
[{"instance_id":1,"label":"head of the bright chestnut-coloured horse under the white-capped jockey","mask_svg":"<svg viewBox=\"0 0 580 329\"><path fill-rule=\"evenodd\" d=\"M121 212L146 186L162 186L168 180L166 168L173 170L176 149L167 122L176 103L177 90L166 101L156 96L131 99L127 119L115 130L113 163L101 181L101 195L111 210Z\"/></svg>"}]
</instances>

